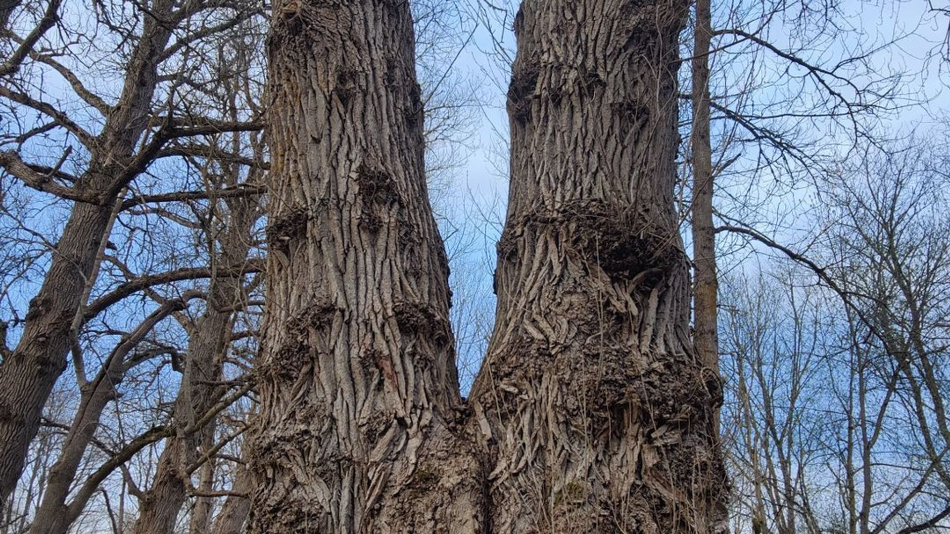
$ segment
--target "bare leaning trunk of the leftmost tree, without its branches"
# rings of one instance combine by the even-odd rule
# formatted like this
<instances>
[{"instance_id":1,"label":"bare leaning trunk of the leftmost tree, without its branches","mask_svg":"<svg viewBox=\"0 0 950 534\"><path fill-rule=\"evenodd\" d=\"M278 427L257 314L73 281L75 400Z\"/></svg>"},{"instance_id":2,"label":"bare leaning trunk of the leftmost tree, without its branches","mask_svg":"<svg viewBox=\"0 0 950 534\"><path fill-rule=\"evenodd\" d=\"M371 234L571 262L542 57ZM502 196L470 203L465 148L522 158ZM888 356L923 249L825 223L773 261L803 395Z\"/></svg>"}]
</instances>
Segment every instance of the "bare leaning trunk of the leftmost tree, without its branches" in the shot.
<instances>
[{"instance_id":1,"label":"bare leaning trunk of the leftmost tree, without its branches","mask_svg":"<svg viewBox=\"0 0 950 534\"><path fill-rule=\"evenodd\" d=\"M93 196L122 189L116 177L130 164L148 119L157 84L159 52L171 29L159 22L172 8L171 0L152 6L142 37L128 65L119 105L112 108L95 140L88 167L77 190ZM39 293L29 301L23 335L0 365L0 502L10 495L23 469L30 440L39 429L49 392L66 369L71 328L97 253L108 227L113 200L77 202L66 222L59 246Z\"/></svg>"}]
</instances>

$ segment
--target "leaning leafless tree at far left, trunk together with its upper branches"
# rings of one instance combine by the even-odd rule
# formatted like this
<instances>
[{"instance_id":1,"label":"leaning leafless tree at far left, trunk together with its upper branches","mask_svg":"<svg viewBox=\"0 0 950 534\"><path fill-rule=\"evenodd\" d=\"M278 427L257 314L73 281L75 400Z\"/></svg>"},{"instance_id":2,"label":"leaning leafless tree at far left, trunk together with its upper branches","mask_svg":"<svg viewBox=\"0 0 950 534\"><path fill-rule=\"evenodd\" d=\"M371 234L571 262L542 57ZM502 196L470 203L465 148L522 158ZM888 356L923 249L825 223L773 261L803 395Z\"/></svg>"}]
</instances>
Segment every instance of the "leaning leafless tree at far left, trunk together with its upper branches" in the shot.
<instances>
[{"instance_id":1,"label":"leaning leafless tree at far left, trunk together with its upper branches","mask_svg":"<svg viewBox=\"0 0 950 534\"><path fill-rule=\"evenodd\" d=\"M234 124L188 116L179 106L176 91L188 80L185 69L192 66L186 58L191 59L193 42L253 16L259 12L256 5L196 0L182 5L157 1L148 10L136 8L97 4L99 28L116 38L110 44L118 47L118 57L123 58L122 86L114 96L97 94L82 71L74 70L84 64L73 66L62 57L97 50L105 40L97 40L94 33L79 34L76 42L51 41L48 50L44 46L32 52L36 67L55 73L69 86L72 102L95 119L70 116L55 100L50 102L46 85L30 78L4 80L0 85L11 124L39 124L8 138L14 148L2 153L0 164L27 186L72 202L48 257L44 281L30 299L16 346L0 365L3 499L20 475L47 397L66 369L66 355L76 343L108 234L123 197L135 187L133 181L170 141L259 127L253 121ZM218 21L225 19L220 11L228 16L215 24L216 16L221 17ZM204 21L209 26L197 31ZM46 150L36 151L48 142L59 144L62 154L52 164L32 161L51 160Z\"/></svg>"}]
</instances>

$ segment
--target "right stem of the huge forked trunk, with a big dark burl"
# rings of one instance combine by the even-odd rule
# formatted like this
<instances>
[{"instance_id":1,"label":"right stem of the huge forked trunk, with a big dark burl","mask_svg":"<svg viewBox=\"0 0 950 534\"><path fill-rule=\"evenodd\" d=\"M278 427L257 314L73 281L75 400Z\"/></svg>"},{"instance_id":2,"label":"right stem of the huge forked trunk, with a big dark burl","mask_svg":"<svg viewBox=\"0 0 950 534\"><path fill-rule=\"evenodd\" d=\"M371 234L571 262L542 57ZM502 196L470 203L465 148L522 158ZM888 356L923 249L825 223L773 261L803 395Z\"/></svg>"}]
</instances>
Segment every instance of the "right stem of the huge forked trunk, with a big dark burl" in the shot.
<instances>
[{"instance_id":1,"label":"right stem of the huge forked trunk, with a big dark burl","mask_svg":"<svg viewBox=\"0 0 950 534\"><path fill-rule=\"evenodd\" d=\"M471 393L494 532L726 530L674 210L680 0L526 0L498 314Z\"/></svg>"}]
</instances>

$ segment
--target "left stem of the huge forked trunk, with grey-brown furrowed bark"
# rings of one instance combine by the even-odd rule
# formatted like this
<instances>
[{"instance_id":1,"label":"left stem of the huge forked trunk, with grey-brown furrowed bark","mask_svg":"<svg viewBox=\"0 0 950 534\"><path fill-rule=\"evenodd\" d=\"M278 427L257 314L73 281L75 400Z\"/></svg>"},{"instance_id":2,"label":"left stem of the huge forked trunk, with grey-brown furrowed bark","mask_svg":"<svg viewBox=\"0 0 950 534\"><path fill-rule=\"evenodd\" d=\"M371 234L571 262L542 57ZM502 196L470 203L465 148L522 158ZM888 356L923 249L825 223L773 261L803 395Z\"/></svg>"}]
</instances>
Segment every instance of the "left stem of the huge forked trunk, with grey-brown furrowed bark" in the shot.
<instances>
[{"instance_id":1,"label":"left stem of the huge forked trunk, with grey-brown furrowed bark","mask_svg":"<svg viewBox=\"0 0 950 534\"><path fill-rule=\"evenodd\" d=\"M250 531L474 531L409 4L276 2L268 54Z\"/></svg>"}]
</instances>

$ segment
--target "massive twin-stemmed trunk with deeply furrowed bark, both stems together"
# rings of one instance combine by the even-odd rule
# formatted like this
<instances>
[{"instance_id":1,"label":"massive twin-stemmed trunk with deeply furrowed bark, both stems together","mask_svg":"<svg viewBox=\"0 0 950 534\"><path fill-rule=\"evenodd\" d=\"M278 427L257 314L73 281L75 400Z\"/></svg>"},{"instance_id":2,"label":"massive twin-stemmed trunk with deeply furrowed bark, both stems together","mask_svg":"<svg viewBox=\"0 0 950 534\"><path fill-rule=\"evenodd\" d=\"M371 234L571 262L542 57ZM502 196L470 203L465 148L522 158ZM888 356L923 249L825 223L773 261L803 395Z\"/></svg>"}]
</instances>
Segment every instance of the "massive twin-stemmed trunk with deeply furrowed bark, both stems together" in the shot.
<instances>
[{"instance_id":1,"label":"massive twin-stemmed trunk with deeply furrowed bark, both stems together","mask_svg":"<svg viewBox=\"0 0 950 534\"><path fill-rule=\"evenodd\" d=\"M526 0L466 401L409 8L276 3L252 532L725 531L673 188L685 0Z\"/></svg>"}]
</instances>

